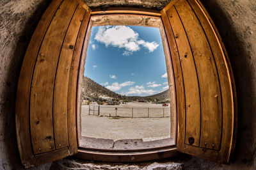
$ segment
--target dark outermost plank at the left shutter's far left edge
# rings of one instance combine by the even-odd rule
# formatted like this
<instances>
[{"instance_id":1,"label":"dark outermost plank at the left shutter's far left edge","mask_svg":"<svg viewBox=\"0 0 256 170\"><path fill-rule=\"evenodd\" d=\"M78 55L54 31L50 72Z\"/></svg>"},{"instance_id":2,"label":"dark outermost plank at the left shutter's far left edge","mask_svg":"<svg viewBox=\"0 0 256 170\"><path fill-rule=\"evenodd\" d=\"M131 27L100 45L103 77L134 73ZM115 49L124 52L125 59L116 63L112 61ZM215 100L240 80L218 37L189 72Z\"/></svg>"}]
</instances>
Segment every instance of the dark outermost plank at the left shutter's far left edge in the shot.
<instances>
[{"instance_id":1,"label":"dark outermost plank at the left shutter's far left edge","mask_svg":"<svg viewBox=\"0 0 256 170\"><path fill-rule=\"evenodd\" d=\"M42 15L42 18L36 26L35 32L29 42L24 61L22 63L22 68L20 70L19 84L17 86L15 119L20 158L22 165L25 167L29 167L33 162L35 163L29 130L29 96L33 68L35 66L36 56L40 49L45 32L47 31L52 17L61 3L62 0L52 1L49 7L45 10L44 15Z\"/></svg>"}]
</instances>

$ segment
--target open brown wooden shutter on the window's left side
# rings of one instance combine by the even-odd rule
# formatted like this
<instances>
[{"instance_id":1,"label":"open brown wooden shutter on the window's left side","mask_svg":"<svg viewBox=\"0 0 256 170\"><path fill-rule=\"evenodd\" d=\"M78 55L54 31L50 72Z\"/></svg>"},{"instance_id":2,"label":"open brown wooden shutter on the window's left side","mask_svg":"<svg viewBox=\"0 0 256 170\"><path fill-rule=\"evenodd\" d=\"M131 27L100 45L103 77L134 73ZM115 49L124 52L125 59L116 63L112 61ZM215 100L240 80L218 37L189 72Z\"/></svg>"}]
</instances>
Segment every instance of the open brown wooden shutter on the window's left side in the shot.
<instances>
[{"instance_id":1,"label":"open brown wooden shutter on the window's left side","mask_svg":"<svg viewBox=\"0 0 256 170\"><path fill-rule=\"evenodd\" d=\"M77 72L90 12L82 1L54 0L31 38L16 100L26 168L77 153Z\"/></svg>"}]
</instances>

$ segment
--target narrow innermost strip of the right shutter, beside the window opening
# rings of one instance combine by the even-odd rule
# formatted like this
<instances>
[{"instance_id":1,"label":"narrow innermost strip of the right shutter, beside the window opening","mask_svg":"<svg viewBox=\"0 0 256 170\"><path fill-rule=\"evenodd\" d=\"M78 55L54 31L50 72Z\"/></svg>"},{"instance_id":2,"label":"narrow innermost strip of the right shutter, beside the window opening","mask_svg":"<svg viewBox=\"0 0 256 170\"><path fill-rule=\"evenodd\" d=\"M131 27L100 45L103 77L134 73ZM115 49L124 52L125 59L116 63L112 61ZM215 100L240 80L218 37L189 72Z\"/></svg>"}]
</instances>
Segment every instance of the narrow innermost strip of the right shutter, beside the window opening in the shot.
<instances>
[{"instance_id":1,"label":"narrow innermost strip of the right shutter, beside the window opening","mask_svg":"<svg viewBox=\"0 0 256 170\"><path fill-rule=\"evenodd\" d=\"M184 150L185 141L185 122L186 122L186 101L184 96L184 82L182 68L180 65L179 51L175 43L175 38L172 31L172 26L168 20L165 9L161 11L161 16L164 24L164 29L169 43L170 52L172 55L172 68L175 79L176 104L177 104L177 150Z\"/></svg>"}]
</instances>

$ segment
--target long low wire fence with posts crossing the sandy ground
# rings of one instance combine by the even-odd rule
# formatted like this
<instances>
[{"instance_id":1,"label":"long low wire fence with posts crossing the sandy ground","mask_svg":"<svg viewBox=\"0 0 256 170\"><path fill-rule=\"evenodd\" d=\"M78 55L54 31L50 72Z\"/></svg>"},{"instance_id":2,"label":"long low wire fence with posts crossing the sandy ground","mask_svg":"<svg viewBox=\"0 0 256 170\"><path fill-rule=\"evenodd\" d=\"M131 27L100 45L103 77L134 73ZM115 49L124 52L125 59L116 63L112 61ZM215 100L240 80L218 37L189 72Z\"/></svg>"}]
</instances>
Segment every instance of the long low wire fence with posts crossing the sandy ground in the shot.
<instances>
[{"instance_id":1,"label":"long low wire fence with posts crossing the sandy ground","mask_svg":"<svg viewBox=\"0 0 256 170\"><path fill-rule=\"evenodd\" d=\"M170 107L107 107L89 105L89 115L120 118L168 118Z\"/></svg>"}]
</instances>

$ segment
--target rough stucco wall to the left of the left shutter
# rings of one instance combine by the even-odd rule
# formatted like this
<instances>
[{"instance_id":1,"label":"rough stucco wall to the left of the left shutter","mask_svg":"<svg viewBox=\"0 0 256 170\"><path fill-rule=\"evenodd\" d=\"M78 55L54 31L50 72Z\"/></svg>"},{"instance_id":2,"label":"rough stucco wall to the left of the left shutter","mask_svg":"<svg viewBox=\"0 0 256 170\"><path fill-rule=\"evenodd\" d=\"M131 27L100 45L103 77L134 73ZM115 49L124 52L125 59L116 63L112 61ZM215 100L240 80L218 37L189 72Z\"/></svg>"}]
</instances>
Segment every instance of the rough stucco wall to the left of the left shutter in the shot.
<instances>
[{"instance_id":1,"label":"rough stucco wall to the left of the left shutter","mask_svg":"<svg viewBox=\"0 0 256 170\"><path fill-rule=\"evenodd\" d=\"M0 1L0 169L22 168L15 132L17 82L29 40L50 1Z\"/></svg>"}]
</instances>

